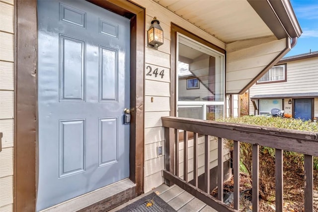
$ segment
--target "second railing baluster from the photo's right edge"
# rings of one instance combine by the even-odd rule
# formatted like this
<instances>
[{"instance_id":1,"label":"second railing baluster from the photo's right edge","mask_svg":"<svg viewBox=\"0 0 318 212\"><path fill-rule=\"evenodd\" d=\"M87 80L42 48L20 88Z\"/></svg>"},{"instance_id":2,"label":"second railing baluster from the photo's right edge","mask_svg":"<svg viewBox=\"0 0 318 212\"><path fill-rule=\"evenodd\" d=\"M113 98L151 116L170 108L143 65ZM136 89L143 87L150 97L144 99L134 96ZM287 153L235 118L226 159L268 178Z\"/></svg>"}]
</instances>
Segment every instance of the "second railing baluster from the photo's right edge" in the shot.
<instances>
[{"instance_id":1,"label":"second railing baluster from the photo's right edge","mask_svg":"<svg viewBox=\"0 0 318 212\"><path fill-rule=\"evenodd\" d=\"M275 149L275 205L276 212L283 211L283 150Z\"/></svg>"}]
</instances>

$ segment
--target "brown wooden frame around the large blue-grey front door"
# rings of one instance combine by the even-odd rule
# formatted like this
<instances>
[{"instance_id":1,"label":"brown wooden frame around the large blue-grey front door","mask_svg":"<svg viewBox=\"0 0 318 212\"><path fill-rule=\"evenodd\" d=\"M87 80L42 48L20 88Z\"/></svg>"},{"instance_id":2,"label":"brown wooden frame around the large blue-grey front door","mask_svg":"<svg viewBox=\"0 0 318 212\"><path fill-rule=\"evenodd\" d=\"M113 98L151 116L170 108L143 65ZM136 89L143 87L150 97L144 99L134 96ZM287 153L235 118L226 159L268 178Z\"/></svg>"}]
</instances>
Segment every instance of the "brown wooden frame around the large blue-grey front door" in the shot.
<instances>
[{"instance_id":1,"label":"brown wooden frame around the large blue-grey front door","mask_svg":"<svg viewBox=\"0 0 318 212\"><path fill-rule=\"evenodd\" d=\"M144 188L145 8L128 0L90 0L131 20L130 180ZM34 212L37 188L37 1L15 0L13 211Z\"/></svg>"}]
</instances>

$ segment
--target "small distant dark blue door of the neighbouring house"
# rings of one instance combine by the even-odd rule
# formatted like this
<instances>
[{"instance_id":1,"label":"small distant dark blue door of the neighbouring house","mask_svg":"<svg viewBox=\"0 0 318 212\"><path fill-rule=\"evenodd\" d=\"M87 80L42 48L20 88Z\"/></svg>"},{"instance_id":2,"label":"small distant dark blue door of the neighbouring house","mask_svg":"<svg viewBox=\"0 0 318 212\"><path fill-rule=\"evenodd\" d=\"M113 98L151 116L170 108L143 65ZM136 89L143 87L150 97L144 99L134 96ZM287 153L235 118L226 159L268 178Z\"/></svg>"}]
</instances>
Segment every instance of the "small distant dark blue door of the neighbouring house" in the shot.
<instances>
[{"instance_id":1,"label":"small distant dark blue door of the neighbouring house","mask_svg":"<svg viewBox=\"0 0 318 212\"><path fill-rule=\"evenodd\" d=\"M295 119L312 119L312 99L295 99Z\"/></svg>"}]
</instances>

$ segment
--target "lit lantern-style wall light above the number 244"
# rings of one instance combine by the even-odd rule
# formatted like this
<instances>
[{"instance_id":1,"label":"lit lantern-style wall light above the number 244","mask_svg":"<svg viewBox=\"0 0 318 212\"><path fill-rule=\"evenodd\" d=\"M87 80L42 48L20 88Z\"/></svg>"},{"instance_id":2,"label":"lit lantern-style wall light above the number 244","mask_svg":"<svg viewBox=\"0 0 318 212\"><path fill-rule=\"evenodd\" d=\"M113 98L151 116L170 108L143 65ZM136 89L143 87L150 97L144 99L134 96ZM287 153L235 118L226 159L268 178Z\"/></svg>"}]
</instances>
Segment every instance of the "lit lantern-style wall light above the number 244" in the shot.
<instances>
[{"instance_id":1,"label":"lit lantern-style wall light above the number 244","mask_svg":"<svg viewBox=\"0 0 318 212\"><path fill-rule=\"evenodd\" d=\"M159 23L157 17L154 17L148 30L148 47L154 49L158 49L158 47L163 44L163 31Z\"/></svg>"}]
</instances>

